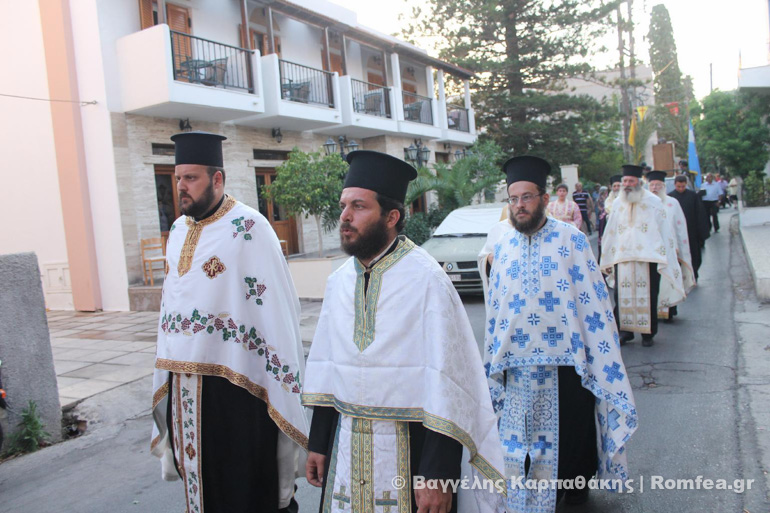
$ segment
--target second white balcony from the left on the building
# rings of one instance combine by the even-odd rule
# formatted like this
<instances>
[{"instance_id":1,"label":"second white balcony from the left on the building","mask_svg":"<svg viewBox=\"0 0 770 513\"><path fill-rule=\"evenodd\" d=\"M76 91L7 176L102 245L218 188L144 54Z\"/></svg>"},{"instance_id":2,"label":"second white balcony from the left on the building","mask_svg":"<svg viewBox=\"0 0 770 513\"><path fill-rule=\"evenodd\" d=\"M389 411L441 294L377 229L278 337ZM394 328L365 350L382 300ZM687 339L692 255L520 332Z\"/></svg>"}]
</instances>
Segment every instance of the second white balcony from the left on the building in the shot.
<instances>
[{"instance_id":1,"label":"second white balcony from the left on the building","mask_svg":"<svg viewBox=\"0 0 770 513\"><path fill-rule=\"evenodd\" d=\"M237 120L243 126L305 131L342 123L336 73L278 58L260 59L265 112Z\"/></svg>"}]
</instances>

